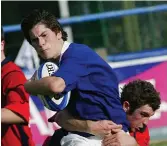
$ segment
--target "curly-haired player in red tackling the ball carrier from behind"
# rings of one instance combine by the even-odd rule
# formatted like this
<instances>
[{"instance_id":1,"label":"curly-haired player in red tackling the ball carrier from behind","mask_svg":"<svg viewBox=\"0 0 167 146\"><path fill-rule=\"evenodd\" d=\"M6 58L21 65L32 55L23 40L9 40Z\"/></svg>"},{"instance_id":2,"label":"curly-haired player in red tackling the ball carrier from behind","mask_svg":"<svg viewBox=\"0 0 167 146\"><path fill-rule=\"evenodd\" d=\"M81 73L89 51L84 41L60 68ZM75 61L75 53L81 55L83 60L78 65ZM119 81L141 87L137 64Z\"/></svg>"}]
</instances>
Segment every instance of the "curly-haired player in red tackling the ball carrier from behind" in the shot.
<instances>
[{"instance_id":1,"label":"curly-haired player in red tackling the ball carrier from behind","mask_svg":"<svg viewBox=\"0 0 167 146\"><path fill-rule=\"evenodd\" d=\"M136 139L139 146L149 146L150 136L147 122L160 107L159 93L151 83L134 80L122 89L121 102L130 123L130 135ZM107 125L108 121L93 122L74 119L66 109L51 117L49 121L56 121L61 127L71 131L77 129L77 131L87 131L94 135L107 135L103 139L103 146L127 145L125 143L129 141L128 137L126 137L127 134L116 133L109 135L111 130ZM49 146L54 144L58 146L64 135L66 135L66 131L59 129L46 143L48 142Z\"/></svg>"}]
</instances>

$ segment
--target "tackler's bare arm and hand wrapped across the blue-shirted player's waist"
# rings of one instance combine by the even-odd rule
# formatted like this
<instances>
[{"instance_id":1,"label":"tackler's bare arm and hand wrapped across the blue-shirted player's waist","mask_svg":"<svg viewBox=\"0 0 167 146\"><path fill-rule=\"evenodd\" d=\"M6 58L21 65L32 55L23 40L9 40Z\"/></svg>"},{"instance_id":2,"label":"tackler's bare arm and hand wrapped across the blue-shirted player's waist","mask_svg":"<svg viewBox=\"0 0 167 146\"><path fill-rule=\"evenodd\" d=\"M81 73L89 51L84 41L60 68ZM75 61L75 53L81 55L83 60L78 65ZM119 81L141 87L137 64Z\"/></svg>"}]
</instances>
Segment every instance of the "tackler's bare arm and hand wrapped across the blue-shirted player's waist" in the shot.
<instances>
[{"instance_id":1,"label":"tackler's bare arm and hand wrapped across the blue-shirted player's waist","mask_svg":"<svg viewBox=\"0 0 167 146\"><path fill-rule=\"evenodd\" d=\"M122 125L117 125L109 120L91 121L76 119L69 114L67 109L56 113L49 119L68 131L80 131L93 135L104 136L111 134L112 130L120 131Z\"/></svg>"}]
</instances>

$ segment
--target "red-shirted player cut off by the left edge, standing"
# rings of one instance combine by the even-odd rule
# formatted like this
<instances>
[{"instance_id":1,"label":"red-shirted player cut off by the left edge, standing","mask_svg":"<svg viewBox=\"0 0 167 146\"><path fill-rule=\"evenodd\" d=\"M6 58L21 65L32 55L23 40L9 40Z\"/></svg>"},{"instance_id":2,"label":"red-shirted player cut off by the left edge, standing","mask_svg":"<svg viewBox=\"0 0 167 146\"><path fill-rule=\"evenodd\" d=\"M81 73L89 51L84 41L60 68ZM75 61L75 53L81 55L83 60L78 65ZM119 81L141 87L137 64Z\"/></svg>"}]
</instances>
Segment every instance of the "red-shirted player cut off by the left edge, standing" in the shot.
<instances>
[{"instance_id":1,"label":"red-shirted player cut off by the left edge, standing","mask_svg":"<svg viewBox=\"0 0 167 146\"><path fill-rule=\"evenodd\" d=\"M21 69L5 57L5 39L1 27L1 145L34 146L28 126L29 94Z\"/></svg>"}]
</instances>

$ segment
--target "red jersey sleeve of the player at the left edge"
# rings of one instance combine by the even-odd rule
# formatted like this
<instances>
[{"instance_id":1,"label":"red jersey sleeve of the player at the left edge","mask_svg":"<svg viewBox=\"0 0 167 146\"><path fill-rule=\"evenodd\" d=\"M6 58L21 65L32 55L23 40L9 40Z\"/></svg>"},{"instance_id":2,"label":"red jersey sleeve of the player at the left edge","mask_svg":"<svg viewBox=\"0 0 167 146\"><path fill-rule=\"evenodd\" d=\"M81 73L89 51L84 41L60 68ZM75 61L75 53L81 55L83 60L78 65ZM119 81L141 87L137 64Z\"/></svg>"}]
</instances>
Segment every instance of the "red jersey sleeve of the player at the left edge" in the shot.
<instances>
[{"instance_id":1,"label":"red jersey sleeve of the player at the left edge","mask_svg":"<svg viewBox=\"0 0 167 146\"><path fill-rule=\"evenodd\" d=\"M6 106L29 122L29 94L24 89L26 78L21 72L12 72L5 78Z\"/></svg>"}]
</instances>

